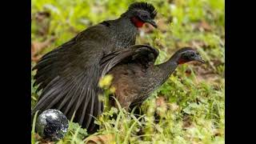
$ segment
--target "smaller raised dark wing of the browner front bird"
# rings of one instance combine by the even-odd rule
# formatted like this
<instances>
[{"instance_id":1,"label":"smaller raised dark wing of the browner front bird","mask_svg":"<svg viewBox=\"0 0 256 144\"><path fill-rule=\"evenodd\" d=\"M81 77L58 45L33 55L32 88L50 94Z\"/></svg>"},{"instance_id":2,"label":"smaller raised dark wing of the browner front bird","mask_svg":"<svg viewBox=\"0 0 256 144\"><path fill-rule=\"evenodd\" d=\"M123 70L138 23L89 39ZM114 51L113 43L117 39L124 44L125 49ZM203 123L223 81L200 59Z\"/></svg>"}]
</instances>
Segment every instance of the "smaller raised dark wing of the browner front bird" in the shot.
<instances>
[{"instance_id":1,"label":"smaller raised dark wing of the browner front bird","mask_svg":"<svg viewBox=\"0 0 256 144\"><path fill-rule=\"evenodd\" d=\"M134 45L127 49L114 51L101 60L102 75L105 75L111 68L122 62L138 62L143 66L150 62L154 64L158 54L158 50L148 45Z\"/></svg>"}]
</instances>

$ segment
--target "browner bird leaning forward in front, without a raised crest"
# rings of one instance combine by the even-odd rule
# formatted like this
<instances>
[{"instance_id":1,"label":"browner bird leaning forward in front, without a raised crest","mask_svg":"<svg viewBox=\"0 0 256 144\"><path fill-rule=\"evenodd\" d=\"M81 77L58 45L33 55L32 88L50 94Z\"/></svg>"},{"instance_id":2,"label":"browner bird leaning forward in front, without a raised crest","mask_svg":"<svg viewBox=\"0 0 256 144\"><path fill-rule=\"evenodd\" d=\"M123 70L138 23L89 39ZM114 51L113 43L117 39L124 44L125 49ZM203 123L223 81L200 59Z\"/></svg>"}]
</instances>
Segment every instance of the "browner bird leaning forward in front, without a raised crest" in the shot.
<instances>
[{"instance_id":1,"label":"browner bird leaning forward in front, without a raised crest","mask_svg":"<svg viewBox=\"0 0 256 144\"><path fill-rule=\"evenodd\" d=\"M113 76L111 82L111 86L114 87L113 96L125 110L133 110L135 106L141 106L154 90L166 82L179 65L191 61L205 62L198 51L191 47L183 47L169 60L159 65L154 65L159 54L154 47L140 45L136 50L138 51L136 54L126 55L126 58L122 58L123 60L107 73ZM110 105L118 107L113 98Z\"/></svg>"}]
</instances>

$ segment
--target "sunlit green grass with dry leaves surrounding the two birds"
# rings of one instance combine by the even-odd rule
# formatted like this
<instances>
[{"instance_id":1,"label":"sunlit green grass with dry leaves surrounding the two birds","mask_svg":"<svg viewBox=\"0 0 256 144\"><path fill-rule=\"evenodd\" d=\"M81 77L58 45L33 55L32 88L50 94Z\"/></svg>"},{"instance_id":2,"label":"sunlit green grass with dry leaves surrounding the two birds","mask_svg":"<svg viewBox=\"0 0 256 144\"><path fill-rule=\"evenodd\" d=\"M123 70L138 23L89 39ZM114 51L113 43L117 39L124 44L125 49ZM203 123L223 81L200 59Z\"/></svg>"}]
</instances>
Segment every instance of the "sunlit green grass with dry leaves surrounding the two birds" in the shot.
<instances>
[{"instance_id":1,"label":"sunlit green grass with dry leaves surrounding the two birds","mask_svg":"<svg viewBox=\"0 0 256 144\"><path fill-rule=\"evenodd\" d=\"M31 38L37 51L33 54L34 59L89 26L118 18L131 2L134 1L32 0ZM158 9L159 28L143 26L137 43L149 43L160 50L156 63L165 62L182 46L193 46L202 54L206 64L179 66L168 81L143 103L145 115L140 117L143 121L121 107L106 109L97 120L101 129L94 135L114 134L115 143L224 143L224 0L150 2ZM53 37L53 42L42 46ZM35 62L31 64L34 66ZM31 72L32 78L34 74ZM32 79L32 107L40 95L32 86L33 82ZM112 118L114 114L118 115L117 118ZM159 122L154 122L155 114L158 114ZM138 134L141 131L143 133ZM68 134L58 143L82 143L85 136L89 136L86 130L70 122ZM32 137L31 142L38 142L38 139Z\"/></svg>"}]
</instances>

